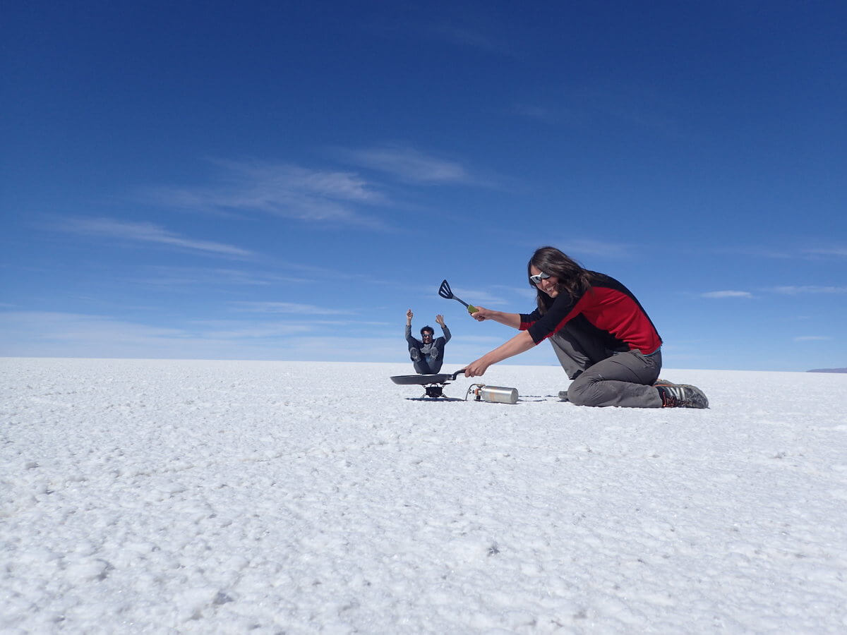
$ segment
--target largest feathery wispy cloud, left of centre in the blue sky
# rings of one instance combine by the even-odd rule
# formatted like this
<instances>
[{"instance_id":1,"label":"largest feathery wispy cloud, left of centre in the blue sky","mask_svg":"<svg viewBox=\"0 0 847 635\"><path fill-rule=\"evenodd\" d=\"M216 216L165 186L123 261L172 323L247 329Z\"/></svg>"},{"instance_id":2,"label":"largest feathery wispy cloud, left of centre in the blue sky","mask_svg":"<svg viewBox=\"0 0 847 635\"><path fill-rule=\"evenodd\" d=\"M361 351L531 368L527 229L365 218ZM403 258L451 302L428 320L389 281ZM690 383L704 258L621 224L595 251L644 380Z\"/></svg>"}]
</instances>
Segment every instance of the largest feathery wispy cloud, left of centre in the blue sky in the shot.
<instances>
[{"instance_id":1,"label":"largest feathery wispy cloud, left of centre in the blue sky","mask_svg":"<svg viewBox=\"0 0 847 635\"><path fill-rule=\"evenodd\" d=\"M358 206L385 205L372 184L352 172L315 170L286 163L213 162L217 185L159 187L148 191L159 204L205 213L268 213L313 223L386 229Z\"/></svg>"}]
</instances>

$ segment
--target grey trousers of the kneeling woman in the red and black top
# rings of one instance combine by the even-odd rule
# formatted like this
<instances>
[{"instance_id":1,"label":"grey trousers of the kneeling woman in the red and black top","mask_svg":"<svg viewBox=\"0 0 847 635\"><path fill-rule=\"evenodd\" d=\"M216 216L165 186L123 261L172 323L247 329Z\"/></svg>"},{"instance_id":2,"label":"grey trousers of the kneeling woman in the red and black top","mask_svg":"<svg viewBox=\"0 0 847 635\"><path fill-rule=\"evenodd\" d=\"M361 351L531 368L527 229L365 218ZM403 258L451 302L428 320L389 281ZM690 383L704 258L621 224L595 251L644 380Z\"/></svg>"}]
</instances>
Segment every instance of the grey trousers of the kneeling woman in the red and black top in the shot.
<instances>
[{"instance_id":1,"label":"grey trousers of the kneeling woman in the red and black top","mask_svg":"<svg viewBox=\"0 0 847 635\"><path fill-rule=\"evenodd\" d=\"M662 397L652 385L662 370L662 349L650 355L609 351L584 331L567 326L551 335L550 343L573 379L568 400L577 406L662 407Z\"/></svg>"}]
</instances>

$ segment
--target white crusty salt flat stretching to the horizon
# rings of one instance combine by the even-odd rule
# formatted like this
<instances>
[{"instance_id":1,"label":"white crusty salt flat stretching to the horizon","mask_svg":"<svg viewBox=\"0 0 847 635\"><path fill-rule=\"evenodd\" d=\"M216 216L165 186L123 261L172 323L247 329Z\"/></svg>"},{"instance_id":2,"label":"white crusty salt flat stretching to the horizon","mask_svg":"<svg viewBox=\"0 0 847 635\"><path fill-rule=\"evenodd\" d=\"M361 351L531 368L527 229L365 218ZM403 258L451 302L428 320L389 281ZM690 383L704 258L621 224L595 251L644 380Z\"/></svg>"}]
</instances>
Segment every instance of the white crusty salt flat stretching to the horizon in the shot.
<instances>
[{"instance_id":1,"label":"white crusty salt flat stretching to the horizon","mask_svg":"<svg viewBox=\"0 0 847 635\"><path fill-rule=\"evenodd\" d=\"M0 359L0 632L847 631L847 375L411 372Z\"/></svg>"}]
</instances>

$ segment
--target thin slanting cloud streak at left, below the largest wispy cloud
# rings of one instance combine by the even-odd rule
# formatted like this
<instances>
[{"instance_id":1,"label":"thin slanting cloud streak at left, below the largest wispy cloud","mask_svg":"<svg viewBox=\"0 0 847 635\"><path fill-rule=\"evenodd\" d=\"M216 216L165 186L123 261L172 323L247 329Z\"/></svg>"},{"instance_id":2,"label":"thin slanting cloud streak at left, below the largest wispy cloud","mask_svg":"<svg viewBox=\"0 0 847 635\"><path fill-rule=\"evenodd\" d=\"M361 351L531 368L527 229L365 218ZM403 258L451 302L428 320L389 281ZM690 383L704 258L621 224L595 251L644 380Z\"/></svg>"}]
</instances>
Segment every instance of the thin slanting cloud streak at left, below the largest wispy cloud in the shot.
<instances>
[{"instance_id":1,"label":"thin slanting cloud streak at left, below the largest wispy cloud","mask_svg":"<svg viewBox=\"0 0 847 635\"><path fill-rule=\"evenodd\" d=\"M213 240L194 240L185 238L152 223L132 223L116 218L66 218L53 229L74 234L100 236L103 238L130 240L134 242L154 243L187 251L201 251L219 256L246 258L252 257L252 251L226 245Z\"/></svg>"}]
</instances>

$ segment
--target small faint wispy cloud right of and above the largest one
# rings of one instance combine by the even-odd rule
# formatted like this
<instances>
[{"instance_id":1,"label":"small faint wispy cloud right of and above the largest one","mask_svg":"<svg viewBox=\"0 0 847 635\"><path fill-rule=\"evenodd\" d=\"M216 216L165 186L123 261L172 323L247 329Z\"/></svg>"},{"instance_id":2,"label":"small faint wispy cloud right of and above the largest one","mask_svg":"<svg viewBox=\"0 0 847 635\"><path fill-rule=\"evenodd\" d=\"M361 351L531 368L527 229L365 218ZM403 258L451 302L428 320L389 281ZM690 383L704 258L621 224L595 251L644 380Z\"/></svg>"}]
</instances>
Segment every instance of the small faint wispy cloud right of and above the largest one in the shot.
<instances>
[{"instance_id":1,"label":"small faint wispy cloud right of and above the largest one","mask_svg":"<svg viewBox=\"0 0 847 635\"><path fill-rule=\"evenodd\" d=\"M339 150L336 154L354 165L390 174L406 183L424 185L484 185L457 161L434 157L405 146Z\"/></svg>"}]
</instances>

